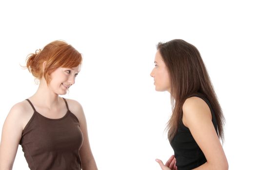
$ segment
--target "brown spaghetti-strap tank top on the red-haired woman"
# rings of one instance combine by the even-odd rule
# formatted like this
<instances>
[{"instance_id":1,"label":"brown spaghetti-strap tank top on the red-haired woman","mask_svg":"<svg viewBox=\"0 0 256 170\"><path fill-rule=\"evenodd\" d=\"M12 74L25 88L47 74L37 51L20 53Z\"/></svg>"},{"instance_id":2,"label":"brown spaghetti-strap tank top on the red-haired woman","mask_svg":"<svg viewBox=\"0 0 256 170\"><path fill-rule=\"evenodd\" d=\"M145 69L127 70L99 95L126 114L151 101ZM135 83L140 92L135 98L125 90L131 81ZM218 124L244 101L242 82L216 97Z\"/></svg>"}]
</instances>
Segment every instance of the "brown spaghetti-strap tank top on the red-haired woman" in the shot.
<instances>
[{"instance_id":1,"label":"brown spaghetti-strap tank top on the red-haired woman","mask_svg":"<svg viewBox=\"0 0 256 170\"><path fill-rule=\"evenodd\" d=\"M79 149L83 136L79 120L70 112L60 119L34 114L22 131L20 145L31 170L81 170Z\"/></svg>"}]
</instances>

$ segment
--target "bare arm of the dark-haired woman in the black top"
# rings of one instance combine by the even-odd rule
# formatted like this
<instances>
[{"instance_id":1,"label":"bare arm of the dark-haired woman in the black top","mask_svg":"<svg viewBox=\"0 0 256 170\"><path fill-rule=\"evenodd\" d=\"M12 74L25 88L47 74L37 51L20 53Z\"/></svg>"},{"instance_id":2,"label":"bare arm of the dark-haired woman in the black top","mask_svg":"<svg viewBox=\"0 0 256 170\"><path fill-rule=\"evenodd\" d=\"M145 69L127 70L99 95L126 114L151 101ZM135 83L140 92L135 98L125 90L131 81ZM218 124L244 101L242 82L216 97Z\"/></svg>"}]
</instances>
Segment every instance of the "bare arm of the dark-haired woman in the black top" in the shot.
<instances>
[{"instance_id":1,"label":"bare arm of the dark-haired woman in the black top","mask_svg":"<svg viewBox=\"0 0 256 170\"><path fill-rule=\"evenodd\" d=\"M228 162L212 123L209 106L191 97L183 104L182 121L204 153L207 162L194 170L228 170Z\"/></svg>"}]
</instances>

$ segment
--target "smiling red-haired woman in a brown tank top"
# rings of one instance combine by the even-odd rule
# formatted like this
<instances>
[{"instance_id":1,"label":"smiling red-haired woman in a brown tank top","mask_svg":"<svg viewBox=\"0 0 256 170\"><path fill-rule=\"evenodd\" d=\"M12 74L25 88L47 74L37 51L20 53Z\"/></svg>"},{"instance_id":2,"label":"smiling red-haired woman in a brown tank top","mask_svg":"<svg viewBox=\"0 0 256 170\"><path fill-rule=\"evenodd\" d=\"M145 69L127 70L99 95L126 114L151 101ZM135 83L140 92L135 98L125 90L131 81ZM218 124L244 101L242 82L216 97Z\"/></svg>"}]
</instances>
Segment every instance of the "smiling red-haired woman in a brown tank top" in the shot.
<instances>
[{"instance_id":1,"label":"smiling red-haired woman in a brown tank top","mask_svg":"<svg viewBox=\"0 0 256 170\"><path fill-rule=\"evenodd\" d=\"M79 102L64 99L80 71L81 54L54 41L27 57L37 92L15 104L3 125L0 170L11 170L18 145L31 170L97 170Z\"/></svg>"}]
</instances>

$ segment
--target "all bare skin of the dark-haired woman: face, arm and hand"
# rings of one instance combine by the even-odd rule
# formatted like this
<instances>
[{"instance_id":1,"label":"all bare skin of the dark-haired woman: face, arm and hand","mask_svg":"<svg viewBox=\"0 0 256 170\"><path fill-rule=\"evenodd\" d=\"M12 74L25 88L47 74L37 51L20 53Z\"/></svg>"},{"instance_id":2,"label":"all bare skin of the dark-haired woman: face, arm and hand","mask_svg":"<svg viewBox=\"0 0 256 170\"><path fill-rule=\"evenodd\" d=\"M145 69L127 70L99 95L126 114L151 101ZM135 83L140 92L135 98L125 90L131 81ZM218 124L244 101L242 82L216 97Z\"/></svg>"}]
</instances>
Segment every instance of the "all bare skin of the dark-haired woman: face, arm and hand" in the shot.
<instances>
[{"instance_id":1,"label":"all bare skin of the dark-haired woman: face, arm and hand","mask_svg":"<svg viewBox=\"0 0 256 170\"><path fill-rule=\"evenodd\" d=\"M156 67L151 76L154 78L157 91L171 91L168 69L159 51L155 56ZM183 124L189 128L198 146L204 153L207 162L194 170L227 170L228 161L212 123L209 106L201 98L188 98L182 107ZM172 155L166 164L156 159L162 170L177 170L175 156Z\"/></svg>"}]
</instances>

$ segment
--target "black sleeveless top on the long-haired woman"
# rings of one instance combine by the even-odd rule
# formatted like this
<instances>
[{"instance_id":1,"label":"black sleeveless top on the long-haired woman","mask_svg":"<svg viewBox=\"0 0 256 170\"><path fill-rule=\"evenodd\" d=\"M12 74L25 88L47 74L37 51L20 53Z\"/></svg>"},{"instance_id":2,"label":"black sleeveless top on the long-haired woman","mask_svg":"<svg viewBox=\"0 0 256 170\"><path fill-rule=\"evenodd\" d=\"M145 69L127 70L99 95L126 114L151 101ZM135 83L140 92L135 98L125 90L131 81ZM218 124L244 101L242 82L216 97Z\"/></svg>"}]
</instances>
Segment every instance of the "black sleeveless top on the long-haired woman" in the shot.
<instances>
[{"instance_id":1,"label":"black sleeveless top on the long-haired woman","mask_svg":"<svg viewBox=\"0 0 256 170\"><path fill-rule=\"evenodd\" d=\"M212 113L212 122L217 133L217 121L210 102L201 94L193 96L201 98L209 106ZM170 141L170 144L174 150L178 170L192 170L207 161L190 130L183 124L182 120L179 122L177 134Z\"/></svg>"}]
</instances>

